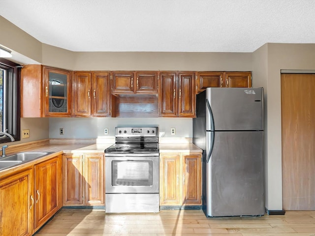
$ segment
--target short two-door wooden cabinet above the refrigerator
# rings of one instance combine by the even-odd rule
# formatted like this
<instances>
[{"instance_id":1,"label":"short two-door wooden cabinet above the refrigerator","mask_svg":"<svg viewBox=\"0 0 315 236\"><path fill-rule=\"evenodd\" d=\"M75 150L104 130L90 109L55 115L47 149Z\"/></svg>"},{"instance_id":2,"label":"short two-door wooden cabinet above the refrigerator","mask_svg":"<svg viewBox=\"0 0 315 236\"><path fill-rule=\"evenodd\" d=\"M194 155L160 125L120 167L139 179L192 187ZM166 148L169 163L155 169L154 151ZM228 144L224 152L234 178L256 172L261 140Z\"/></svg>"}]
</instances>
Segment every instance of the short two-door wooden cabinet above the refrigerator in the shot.
<instances>
[{"instance_id":1,"label":"short two-door wooden cabinet above the refrigerator","mask_svg":"<svg viewBox=\"0 0 315 236\"><path fill-rule=\"evenodd\" d=\"M196 93L210 87L250 88L252 87L252 72L197 72Z\"/></svg>"}]
</instances>

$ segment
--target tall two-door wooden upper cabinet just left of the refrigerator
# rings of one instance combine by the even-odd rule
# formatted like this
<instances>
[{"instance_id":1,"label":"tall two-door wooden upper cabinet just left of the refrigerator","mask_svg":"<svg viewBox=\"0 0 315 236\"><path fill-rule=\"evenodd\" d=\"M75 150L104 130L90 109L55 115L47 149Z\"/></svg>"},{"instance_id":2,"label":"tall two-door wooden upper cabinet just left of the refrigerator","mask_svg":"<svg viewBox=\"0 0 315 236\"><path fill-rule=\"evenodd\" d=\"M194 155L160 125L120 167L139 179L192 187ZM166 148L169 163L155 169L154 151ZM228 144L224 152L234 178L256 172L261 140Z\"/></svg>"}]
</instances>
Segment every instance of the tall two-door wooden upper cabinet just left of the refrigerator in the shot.
<instances>
[{"instance_id":1,"label":"tall two-door wooden upper cabinet just left of the refrigerator","mask_svg":"<svg viewBox=\"0 0 315 236\"><path fill-rule=\"evenodd\" d=\"M195 116L195 73L159 73L159 116Z\"/></svg>"}]
</instances>

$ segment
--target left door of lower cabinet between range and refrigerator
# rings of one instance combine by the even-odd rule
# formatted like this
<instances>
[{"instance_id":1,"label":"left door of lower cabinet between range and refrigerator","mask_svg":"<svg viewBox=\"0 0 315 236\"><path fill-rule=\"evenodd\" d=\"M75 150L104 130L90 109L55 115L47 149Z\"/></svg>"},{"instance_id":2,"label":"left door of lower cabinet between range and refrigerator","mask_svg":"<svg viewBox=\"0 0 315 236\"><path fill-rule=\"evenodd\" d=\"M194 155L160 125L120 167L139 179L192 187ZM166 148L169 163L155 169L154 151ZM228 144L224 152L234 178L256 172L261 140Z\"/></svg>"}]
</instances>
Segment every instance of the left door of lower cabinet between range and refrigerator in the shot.
<instances>
[{"instance_id":1,"label":"left door of lower cabinet between range and refrigerator","mask_svg":"<svg viewBox=\"0 0 315 236\"><path fill-rule=\"evenodd\" d=\"M181 205L180 155L160 154L159 196L160 205Z\"/></svg>"}]
</instances>

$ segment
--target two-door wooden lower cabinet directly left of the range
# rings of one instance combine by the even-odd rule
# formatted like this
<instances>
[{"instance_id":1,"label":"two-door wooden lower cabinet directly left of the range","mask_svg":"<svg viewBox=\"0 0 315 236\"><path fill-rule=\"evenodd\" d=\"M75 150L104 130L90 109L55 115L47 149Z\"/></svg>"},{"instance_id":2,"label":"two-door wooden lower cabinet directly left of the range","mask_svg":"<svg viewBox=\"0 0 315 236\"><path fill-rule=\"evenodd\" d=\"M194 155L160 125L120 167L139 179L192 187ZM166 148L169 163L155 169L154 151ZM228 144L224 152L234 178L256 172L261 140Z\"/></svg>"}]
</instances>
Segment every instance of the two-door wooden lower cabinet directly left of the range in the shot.
<instances>
[{"instance_id":1,"label":"two-door wooden lower cabinet directly left of the range","mask_svg":"<svg viewBox=\"0 0 315 236\"><path fill-rule=\"evenodd\" d=\"M104 154L63 154L63 205L105 206Z\"/></svg>"}]
</instances>

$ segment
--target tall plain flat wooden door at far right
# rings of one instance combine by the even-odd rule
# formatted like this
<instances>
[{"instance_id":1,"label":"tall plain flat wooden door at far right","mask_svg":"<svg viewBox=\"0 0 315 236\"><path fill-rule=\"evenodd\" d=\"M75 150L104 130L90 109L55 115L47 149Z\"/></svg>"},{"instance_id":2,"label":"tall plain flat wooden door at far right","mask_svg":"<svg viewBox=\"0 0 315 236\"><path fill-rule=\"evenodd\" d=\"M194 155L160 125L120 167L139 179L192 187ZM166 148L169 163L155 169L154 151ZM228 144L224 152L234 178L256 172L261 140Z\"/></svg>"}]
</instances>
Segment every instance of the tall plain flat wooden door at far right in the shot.
<instances>
[{"instance_id":1,"label":"tall plain flat wooden door at far right","mask_svg":"<svg viewBox=\"0 0 315 236\"><path fill-rule=\"evenodd\" d=\"M315 74L281 75L284 210L315 210Z\"/></svg>"}]
</instances>

